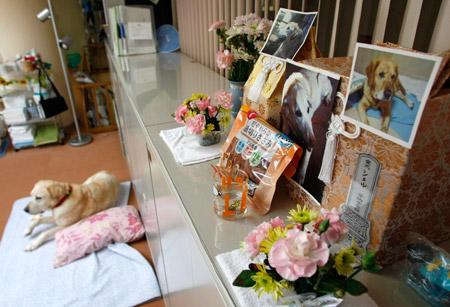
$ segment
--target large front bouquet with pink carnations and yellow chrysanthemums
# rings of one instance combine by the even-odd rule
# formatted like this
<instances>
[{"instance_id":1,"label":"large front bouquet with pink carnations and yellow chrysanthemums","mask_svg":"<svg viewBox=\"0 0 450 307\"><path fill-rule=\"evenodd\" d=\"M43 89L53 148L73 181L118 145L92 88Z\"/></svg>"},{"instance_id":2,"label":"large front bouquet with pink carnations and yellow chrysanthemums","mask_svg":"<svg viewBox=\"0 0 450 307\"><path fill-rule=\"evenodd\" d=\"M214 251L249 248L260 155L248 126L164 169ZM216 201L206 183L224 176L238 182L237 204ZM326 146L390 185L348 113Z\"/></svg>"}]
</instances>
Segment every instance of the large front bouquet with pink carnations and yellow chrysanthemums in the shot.
<instances>
[{"instance_id":1,"label":"large front bouquet with pink carnations and yellow chrysanthemums","mask_svg":"<svg viewBox=\"0 0 450 307\"><path fill-rule=\"evenodd\" d=\"M252 287L261 297L272 295L282 303L327 301L335 305L345 293L361 295L367 288L353 277L361 270L377 272L376 252L363 254L355 241L342 246L348 234L341 213L303 209L289 212L285 224L279 217L264 222L241 242L254 261L234 280L238 287ZM259 263L258 263L259 262ZM286 297L285 297L286 296ZM327 305L328 306L328 305Z\"/></svg>"}]
</instances>

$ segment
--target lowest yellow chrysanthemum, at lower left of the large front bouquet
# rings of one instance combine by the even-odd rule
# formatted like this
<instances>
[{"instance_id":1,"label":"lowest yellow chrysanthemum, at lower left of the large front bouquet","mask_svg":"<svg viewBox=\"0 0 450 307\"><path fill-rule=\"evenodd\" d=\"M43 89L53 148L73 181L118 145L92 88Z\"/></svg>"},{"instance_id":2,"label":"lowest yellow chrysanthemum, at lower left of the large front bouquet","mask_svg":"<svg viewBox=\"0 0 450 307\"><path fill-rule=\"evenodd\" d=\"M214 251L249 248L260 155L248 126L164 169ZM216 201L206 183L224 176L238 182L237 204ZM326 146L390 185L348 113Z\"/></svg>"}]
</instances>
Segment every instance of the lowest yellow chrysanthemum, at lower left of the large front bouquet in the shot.
<instances>
[{"instance_id":1,"label":"lowest yellow chrysanthemum, at lower left of the large front bouquet","mask_svg":"<svg viewBox=\"0 0 450 307\"><path fill-rule=\"evenodd\" d=\"M289 284L286 280L276 281L266 271L266 266L256 264L259 272L252 276L255 285L252 287L255 292L258 292L258 297L261 297L264 292L272 294L274 300L278 301L280 297L284 297L283 289L288 289Z\"/></svg>"}]
</instances>

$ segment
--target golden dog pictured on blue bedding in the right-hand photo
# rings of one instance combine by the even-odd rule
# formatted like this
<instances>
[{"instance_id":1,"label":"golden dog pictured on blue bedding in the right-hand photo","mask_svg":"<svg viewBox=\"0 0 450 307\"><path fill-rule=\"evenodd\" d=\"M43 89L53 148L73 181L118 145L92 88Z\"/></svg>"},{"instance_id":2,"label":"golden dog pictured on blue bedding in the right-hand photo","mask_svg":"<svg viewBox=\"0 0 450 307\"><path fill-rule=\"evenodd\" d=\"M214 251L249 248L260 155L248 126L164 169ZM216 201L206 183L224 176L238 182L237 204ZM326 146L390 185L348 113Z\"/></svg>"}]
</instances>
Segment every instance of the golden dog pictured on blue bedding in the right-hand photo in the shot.
<instances>
[{"instance_id":1,"label":"golden dog pictured on blue bedding in the right-hand photo","mask_svg":"<svg viewBox=\"0 0 450 307\"><path fill-rule=\"evenodd\" d=\"M368 108L381 110L381 131L387 133L391 121L391 99L397 96L410 109L414 103L408 99L405 88L400 82L398 64L391 58L378 58L366 67L367 79L364 82L364 96L358 104L357 110L360 120L369 124L366 111Z\"/></svg>"}]
</instances>

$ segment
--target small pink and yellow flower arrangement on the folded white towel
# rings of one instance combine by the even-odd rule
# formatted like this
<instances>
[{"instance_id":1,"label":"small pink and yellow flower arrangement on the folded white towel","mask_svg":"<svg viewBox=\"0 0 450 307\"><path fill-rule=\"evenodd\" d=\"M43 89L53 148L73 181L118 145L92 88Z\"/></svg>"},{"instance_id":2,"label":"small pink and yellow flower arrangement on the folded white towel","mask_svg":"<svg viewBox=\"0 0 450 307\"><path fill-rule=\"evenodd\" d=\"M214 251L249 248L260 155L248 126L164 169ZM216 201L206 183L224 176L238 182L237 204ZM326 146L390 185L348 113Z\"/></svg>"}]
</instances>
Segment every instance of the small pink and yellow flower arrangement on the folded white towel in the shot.
<instances>
[{"instance_id":1,"label":"small pink and yellow flower arrangement on the folded white towel","mask_svg":"<svg viewBox=\"0 0 450 307\"><path fill-rule=\"evenodd\" d=\"M214 94L217 105L211 104L211 97L205 94L192 94L175 111L172 116L181 124L186 125L186 130L193 135L211 136L210 141L205 138L200 140L200 145L211 145L208 142L220 141L221 127L227 129L230 122L230 112L233 104L233 94L219 90ZM202 143L203 142L203 143Z\"/></svg>"}]
</instances>

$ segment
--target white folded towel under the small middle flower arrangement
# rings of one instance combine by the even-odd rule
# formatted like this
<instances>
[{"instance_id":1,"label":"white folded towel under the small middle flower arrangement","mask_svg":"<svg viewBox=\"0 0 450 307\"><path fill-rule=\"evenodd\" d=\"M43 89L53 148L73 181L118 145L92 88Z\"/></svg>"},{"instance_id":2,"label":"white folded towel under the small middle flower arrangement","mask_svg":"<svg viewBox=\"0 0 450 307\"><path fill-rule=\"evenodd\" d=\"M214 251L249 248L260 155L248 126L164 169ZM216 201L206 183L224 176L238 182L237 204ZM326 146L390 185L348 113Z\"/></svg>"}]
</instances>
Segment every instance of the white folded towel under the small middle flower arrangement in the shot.
<instances>
[{"instance_id":1,"label":"white folded towel under the small middle flower arrangement","mask_svg":"<svg viewBox=\"0 0 450 307\"><path fill-rule=\"evenodd\" d=\"M226 136L222 135L220 142L210 146L200 146L196 137L186 135L185 127L161 130L160 136L169 146L175 160L181 165L191 165L218 158L220 148L225 143Z\"/></svg>"}]
</instances>

